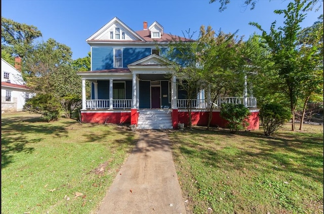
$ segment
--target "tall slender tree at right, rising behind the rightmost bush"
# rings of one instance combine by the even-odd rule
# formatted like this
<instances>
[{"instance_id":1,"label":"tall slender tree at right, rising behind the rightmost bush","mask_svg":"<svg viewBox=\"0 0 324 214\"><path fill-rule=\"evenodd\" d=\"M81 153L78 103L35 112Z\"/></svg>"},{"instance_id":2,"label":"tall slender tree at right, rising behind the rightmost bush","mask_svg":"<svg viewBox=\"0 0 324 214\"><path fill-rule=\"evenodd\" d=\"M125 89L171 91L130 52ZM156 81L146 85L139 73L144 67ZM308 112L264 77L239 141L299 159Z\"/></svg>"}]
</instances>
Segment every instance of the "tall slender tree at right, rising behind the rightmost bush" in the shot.
<instances>
[{"instance_id":1,"label":"tall slender tree at right, rising behind the rightmost bush","mask_svg":"<svg viewBox=\"0 0 324 214\"><path fill-rule=\"evenodd\" d=\"M310 7L310 4L306 3L306 0L295 0L294 3L289 3L287 10L275 10L275 14L285 15L285 25L276 29L276 22L273 22L269 33L256 22L250 22L262 31L262 38L271 51L274 70L279 78L277 83L290 101L292 131L295 131L295 109L299 98L299 85L302 81L300 70L302 56L299 55L297 34L301 30L300 23L305 18L303 11Z\"/></svg>"}]
</instances>

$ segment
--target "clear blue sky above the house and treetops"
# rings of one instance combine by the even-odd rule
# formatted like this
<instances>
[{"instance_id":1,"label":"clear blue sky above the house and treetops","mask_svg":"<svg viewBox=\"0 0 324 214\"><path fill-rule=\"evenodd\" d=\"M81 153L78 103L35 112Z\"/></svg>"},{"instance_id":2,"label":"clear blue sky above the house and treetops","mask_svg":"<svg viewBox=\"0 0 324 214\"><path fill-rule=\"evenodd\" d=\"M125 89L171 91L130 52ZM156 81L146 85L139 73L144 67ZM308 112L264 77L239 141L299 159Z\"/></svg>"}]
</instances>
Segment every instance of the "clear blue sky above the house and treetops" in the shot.
<instances>
[{"instance_id":1,"label":"clear blue sky above the house and treetops","mask_svg":"<svg viewBox=\"0 0 324 214\"><path fill-rule=\"evenodd\" d=\"M273 13L286 9L290 1L259 0L254 10L244 7L244 0L231 0L227 9L219 12L219 3L209 0L2 0L2 17L34 25L43 33L43 40L54 38L67 45L73 59L86 57L90 46L85 41L113 17L118 17L133 30L142 30L143 21L148 26L157 21L166 33L183 35L196 31L201 25L211 25L216 31L244 35L247 39L259 30L248 23L259 23L269 30L273 21L282 25L283 15ZM307 14L302 27L310 26L323 12L322 1L318 12Z\"/></svg>"}]
</instances>

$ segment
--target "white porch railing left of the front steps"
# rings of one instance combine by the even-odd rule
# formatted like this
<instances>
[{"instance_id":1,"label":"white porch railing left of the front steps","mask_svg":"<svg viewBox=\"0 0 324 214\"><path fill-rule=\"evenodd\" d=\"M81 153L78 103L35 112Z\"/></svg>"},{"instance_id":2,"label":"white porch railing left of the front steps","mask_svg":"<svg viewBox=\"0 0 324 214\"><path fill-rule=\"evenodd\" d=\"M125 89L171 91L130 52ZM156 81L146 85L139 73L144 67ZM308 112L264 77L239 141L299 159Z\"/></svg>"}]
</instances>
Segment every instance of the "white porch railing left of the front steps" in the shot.
<instances>
[{"instance_id":1,"label":"white porch railing left of the front steps","mask_svg":"<svg viewBox=\"0 0 324 214\"><path fill-rule=\"evenodd\" d=\"M109 100L86 100L87 109L109 109ZM112 108L126 109L132 107L131 99L112 100Z\"/></svg>"}]
</instances>

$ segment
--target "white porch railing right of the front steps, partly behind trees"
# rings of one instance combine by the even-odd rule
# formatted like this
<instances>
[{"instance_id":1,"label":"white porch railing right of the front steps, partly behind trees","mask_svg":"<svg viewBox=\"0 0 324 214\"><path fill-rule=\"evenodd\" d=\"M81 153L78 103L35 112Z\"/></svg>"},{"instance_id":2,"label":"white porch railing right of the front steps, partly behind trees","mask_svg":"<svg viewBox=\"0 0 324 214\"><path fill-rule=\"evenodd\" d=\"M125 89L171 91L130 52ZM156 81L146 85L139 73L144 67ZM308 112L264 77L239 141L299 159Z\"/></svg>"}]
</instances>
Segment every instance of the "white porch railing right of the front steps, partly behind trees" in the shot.
<instances>
[{"instance_id":1,"label":"white porch railing right of the front steps, partly behind trees","mask_svg":"<svg viewBox=\"0 0 324 214\"><path fill-rule=\"evenodd\" d=\"M233 104L245 104L248 108L256 108L257 107L257 99L255 97L246 97L246 101L244 101L244 97L222 97L217 99L214 104L214 108L220 108L222 103L233 103ZM193 99L190 101L192 108L208 108L208 103L205 99ZM189 100L186 99L178 99L177 107L178 108L187 108L189 104Z\"/></svg>"}]
</instances>

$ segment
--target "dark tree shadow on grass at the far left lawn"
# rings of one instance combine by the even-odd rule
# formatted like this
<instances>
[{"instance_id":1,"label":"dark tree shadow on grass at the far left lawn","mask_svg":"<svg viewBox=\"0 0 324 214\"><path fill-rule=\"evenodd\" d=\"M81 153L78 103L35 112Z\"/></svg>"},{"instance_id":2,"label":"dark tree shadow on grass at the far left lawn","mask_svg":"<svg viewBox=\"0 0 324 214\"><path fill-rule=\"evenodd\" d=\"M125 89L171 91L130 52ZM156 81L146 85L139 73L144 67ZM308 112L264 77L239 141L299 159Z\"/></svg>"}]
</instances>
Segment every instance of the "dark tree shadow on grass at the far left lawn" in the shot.
<instances>
[{"instance_id":1,"label":"dark tree shadow on grass at the far left lawn","mask_svg":"<svg viewBox=\"0 0 324 214\"><path fill-rule=\"evenodd\" d=\"M28 144L41 142L43 138L37 138L39 134L55 137L67 136L64 126L44 122L41 118L35 116L2 118L1 122L2 168L13 162L14 153L32 153L34 148L29 147Z\"/></svg>"}]
</instances>

